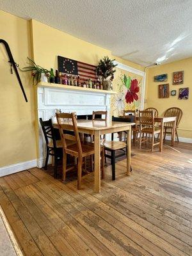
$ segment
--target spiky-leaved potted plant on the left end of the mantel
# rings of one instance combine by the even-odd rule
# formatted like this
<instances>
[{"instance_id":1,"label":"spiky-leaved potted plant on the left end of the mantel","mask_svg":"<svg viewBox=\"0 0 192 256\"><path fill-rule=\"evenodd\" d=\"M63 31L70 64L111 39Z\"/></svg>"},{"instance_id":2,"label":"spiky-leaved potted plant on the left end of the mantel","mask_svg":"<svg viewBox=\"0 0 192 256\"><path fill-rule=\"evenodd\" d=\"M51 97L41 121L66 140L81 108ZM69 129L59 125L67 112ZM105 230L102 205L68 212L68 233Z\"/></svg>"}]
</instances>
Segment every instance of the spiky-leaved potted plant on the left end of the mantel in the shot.
<instances>
[{"instance_id":1,"label":"spiky-leaved potted plant on the left end of the mantel","mask_svg":"<svg viewBox=\"0 0 192 256\"><path fill-rule=\"evenodd\" d=\"M22 68L22 71L31 71L31 76L33 77L33 85L40 83L40 81L47 83L47 77L49 77L50 71L39 65L36 65L35 61L31 60L29 57L28 60L29 62L27 63L29 66Z\"/></svg>"}]
</instances>

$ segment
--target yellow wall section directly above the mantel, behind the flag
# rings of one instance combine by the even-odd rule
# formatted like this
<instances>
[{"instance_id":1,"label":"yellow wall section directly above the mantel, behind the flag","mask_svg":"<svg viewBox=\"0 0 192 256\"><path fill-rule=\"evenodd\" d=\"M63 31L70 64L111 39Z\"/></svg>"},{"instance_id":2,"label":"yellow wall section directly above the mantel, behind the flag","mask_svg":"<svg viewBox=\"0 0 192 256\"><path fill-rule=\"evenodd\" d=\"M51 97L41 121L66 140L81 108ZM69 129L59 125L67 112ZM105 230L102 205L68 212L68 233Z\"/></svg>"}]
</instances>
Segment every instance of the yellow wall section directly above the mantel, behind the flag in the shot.
<instances>
[{"instance_id":1,"label":"yellow wall section directly above the mantel, behind the flag","mask_svg":"<svg viewBox=\"0 0 192 256\"><path fill-rule=\"evenodd\" d=\"M58 55L97 65L111 51L32 20L33 51L36 63L46 68L58 68Z\"/></svg>"}]
</instances>

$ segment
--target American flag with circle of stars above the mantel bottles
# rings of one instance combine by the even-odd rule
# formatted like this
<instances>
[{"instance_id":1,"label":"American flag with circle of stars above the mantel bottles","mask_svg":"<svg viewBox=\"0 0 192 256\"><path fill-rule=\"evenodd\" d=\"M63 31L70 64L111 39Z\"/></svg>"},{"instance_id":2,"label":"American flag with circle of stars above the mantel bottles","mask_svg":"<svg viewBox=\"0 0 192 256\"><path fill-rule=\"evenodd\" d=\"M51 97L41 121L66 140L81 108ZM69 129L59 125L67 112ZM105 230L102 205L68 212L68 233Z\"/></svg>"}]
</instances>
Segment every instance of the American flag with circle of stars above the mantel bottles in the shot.
<instances>
[{"instance_id":1,"label":"American flag with circle of stars above the mantel bottles","mask_svg":"<svg viewBox=\"0 0 192 256\"><path fill-rule=\"evenodd\" d=\"M58 56L58 71L62 74L79 76L81 82L87 81L88 79L97 81L98 77L95 68L96 66L94 65Z\"/></svg>"}]
</instances>

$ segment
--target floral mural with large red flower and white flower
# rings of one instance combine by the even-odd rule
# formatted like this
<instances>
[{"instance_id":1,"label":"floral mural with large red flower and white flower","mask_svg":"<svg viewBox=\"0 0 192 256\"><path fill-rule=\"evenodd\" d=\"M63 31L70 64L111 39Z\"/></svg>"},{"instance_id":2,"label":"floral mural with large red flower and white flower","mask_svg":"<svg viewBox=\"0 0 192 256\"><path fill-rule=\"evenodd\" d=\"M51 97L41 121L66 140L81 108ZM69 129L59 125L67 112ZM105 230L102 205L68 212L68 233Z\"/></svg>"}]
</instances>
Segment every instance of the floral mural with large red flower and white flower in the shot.
<instances>
[{"instance_id":1,"label":"floral mural with large red flower and white flower","mask_svg":"<svg viewBox=\"0 0 192 256\"><path fill-rule=\"evenodd\" d=\"M112 115L123 115L124 109L140 109L143 77L116 68L113 90L117 93L111 99Z\"/></svg>"}]
</instances>

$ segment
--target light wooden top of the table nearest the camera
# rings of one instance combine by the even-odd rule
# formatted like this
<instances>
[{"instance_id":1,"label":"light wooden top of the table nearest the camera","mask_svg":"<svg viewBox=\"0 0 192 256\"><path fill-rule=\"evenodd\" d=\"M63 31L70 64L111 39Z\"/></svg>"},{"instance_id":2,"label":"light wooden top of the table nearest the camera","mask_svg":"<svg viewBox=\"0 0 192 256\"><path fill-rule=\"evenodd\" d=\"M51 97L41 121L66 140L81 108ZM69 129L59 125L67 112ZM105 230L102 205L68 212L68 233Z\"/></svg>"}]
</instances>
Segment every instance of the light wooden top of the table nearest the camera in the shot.
<instances>
[{"instance_id":1,"label":"light wooden top of the table nearest the camera","mask_svg":"<svg viewBox=\"0 0 192 256\"><path fill-rule=\"evenodd\" d=\"M68 122L67 120L63 121L62 124L72 125L72 122ZM92 131L102 131L106 129L115 129L118 127L129 127L131 125L135 125L135 123L129 122L112 122L112 121L98 121L98 120L77 120L78 129L87 129ZM57 127L58 123L53 122L53 126Z\"/></svg>"}]
</instances>

